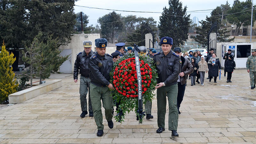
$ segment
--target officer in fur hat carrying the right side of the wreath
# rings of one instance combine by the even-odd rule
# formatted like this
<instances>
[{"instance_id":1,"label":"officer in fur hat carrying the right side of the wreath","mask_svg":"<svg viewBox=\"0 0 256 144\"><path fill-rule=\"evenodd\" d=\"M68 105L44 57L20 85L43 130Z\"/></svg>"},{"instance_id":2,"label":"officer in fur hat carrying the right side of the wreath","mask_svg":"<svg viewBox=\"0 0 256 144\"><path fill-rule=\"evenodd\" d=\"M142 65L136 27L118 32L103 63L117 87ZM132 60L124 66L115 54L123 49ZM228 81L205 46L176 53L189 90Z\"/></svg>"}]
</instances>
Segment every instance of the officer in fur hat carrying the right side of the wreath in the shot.
<instances>
[{"instance_id":1,"label":"officer in fur hat carrying the right side of the wreath","mask_svg":"<svg viewBox=\"0 0 256 144\"><path fill-rule=\"evenodd\" d=\"M158 78L156 86L157 99L157 133L162 133L164 129L164 120L166 113L166 96L169 105L169 130L172 131L172 137L178 137L178 109L177 109L177 94L178 85L177 80L181 70L180 56L171 50L172 38L162 37L160 44L162 45L162 52L157 52L153 58Z\"/></svg>"}]
</instances>

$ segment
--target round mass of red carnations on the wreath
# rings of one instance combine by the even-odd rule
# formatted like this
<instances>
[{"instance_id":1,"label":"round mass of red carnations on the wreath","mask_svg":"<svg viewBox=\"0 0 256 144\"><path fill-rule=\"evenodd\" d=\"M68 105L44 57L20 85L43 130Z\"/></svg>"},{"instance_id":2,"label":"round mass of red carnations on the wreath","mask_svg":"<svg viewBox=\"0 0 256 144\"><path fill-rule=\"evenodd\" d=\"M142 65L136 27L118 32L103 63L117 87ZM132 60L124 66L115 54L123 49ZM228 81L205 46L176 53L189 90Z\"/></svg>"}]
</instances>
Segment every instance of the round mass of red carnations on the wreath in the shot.
<instances>
[{"instance_id":1,"label":"round mass of red carnations on the wreath","mask_svg":"<svg viewBox=\"0 0 256 144\"><path fill-rule=\"evenodd\" d=\"M114 71L114 81L116 91L127 98L138 97L138 83L137 83L137 73L135 58L129 58L123 60L116 66ZM144 63L140 60L140 71L141 71L141 82L142 82L142 94L144 94L150 87L152 79L152 69L149 67L148 63Z\"/></svg>"}]
</instances>

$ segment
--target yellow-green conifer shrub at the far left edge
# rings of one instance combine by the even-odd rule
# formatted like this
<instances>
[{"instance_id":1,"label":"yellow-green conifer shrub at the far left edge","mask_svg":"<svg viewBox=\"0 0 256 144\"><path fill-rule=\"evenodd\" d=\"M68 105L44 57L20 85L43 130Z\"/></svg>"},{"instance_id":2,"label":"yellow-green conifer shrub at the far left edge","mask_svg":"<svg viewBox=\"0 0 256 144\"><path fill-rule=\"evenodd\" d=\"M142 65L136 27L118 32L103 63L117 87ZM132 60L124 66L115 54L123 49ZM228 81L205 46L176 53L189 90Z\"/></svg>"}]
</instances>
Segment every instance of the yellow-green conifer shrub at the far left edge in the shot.
<instances>
[{"instance_id":1,"label":"yellow-green conifer shrub at the far left edge","mask_svg":"<svg viewBox=\"0 0 256 144\"><path fill-rule=\"evenodd\" d=\"M8 100L9 94L16 92L18 84L13 80L15 74L12 71L12 64L16 60L13 53L9 54L5 49L3 42L2 51L0 52L0 101Z\"/></svg>"}]
</instances>

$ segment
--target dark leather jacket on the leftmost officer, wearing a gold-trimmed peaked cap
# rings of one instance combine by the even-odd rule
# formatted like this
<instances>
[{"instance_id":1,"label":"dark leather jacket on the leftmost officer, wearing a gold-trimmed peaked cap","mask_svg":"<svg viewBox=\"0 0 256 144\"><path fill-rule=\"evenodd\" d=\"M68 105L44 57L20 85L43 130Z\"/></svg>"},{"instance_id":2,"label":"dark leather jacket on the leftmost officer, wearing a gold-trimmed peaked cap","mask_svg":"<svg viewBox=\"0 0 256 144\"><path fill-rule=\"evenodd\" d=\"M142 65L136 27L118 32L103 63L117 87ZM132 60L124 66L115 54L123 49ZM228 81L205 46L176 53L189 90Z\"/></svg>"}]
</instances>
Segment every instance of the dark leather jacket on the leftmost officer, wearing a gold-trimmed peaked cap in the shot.
<instances>
[{"instance_id":1,"label":"dark leather jacket on the leftmost officer, wearing a gold-trimmed peaked cap","mask_svg":"<svg viewBox=\"0 0 256 144\"><path fill-rule=\"evenodd\" d=\"M78 72L80 69L80 74L84 77L89 77L90 74L90 69L89 69L89 60L90 57L93 55L93 51L91 51L88 56L86 55L86 53L83 52L79 52L77 53L76 56L76 61L75 61L75 66L74 66L74 79L77 79L78 76Z\"/></svg>"}]
</instances>

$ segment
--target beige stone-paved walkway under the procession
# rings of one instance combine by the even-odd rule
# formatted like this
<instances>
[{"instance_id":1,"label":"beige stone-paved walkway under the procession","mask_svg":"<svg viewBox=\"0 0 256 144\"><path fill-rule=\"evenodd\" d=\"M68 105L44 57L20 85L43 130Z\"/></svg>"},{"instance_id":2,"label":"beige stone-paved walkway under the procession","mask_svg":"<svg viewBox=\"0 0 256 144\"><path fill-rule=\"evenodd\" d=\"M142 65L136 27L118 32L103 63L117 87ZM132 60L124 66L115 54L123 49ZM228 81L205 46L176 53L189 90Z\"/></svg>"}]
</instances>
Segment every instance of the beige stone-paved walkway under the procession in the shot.
<instances>
[{"instance_id":1,"label":"beige stone-paved walkway under the procession","mask_svg":"<svg viewBox=\"0 0 256 144\"><path fill-rule=\"evenodd\" d=\"M80 118L79 83L74 83L72 75L67 76L59 89L2 108L0 143L256 144L256 90L250 89L246 70L236 70L232 81L226 83L222 77L216 84L205 79L205 86L190 86L188 80L180 107L178 138L170 138L168 130L156 133L156 99L154 119L138 124L131 112L122 124L114 122L113 129L103 119L104 135L97 137L93 117ZM165 120L168 124L167 115Z\"/></svg>"}]
</instances>

